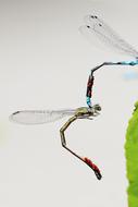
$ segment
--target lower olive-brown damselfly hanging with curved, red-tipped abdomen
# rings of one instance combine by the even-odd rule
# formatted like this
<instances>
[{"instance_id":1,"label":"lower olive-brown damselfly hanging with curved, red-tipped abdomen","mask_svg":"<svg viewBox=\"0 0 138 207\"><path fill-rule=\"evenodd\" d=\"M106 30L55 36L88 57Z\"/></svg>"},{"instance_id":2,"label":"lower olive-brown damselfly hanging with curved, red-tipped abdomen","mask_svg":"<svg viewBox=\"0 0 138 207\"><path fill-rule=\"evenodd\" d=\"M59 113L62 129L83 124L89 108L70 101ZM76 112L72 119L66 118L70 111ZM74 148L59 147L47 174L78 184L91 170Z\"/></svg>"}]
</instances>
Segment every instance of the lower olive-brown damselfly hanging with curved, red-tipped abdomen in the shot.
<instances>
[{"instance_id":1,"label":"lower olive-brown damselfly hanging with curved, red-tipped abdomen","mask_svg":"<svg viewBox=\"0 0 138 207\"><path fill-rule=\"evenodd\" d=\"M87 163L95 172L98 180L101 179L101 173L99 168L87 157L80 157L76 153L74 153L71 148L66 146L65 130L70 126L72 122L77 119L90 119L97 117L101 111L101 107L99 105L95 105L91 108L81 107L78 109L67 109L67 110L24 110L16 111L10 115L10 120L21 124L42 124L48 122L53 122L59 119L62 119L67 115L72 115L68 121L61 127L61 144L62 146L68 150L72 155L77 157L83 162Z\"/></svg>"}]
</instances>

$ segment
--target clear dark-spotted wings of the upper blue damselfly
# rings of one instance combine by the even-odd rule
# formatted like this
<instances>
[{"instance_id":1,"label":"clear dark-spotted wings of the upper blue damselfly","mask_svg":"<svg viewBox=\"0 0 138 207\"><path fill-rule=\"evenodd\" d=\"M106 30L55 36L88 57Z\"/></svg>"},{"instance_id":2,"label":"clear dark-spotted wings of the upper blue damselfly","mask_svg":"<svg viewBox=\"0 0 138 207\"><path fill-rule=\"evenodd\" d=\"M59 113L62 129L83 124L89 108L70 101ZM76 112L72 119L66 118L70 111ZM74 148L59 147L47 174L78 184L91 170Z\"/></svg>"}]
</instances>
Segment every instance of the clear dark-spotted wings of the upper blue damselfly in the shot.
<instances>
[{"instance_id":1,"label":"clear dark-spotted wings of the upper blue damselfly","mask_svg":"<svg viewBox=\"0 0 138 207\"><path fill-rule=\"evenodd\" d=\"M108 24L95 15L85 17L87 25L80 26L79 31L88 38L98 38L109 47L118 50L127 56L138 58L138 51L135 50L127 41L120 37Z\"/></svg>"}]
</instances>

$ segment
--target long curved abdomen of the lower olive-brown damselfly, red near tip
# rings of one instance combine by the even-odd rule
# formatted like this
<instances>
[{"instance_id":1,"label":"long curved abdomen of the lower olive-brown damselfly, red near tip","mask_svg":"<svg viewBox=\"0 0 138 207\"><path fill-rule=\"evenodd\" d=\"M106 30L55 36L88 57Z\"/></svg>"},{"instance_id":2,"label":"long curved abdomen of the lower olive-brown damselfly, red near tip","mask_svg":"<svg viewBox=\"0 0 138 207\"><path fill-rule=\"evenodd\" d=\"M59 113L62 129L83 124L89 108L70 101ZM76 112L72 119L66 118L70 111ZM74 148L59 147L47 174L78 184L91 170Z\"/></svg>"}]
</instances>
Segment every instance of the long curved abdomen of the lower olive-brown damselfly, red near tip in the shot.
<instances>
[{"instance_id":1,"label":"long curved abdomen of the lower olive-brown damselfly, red near tip","mask_svg":"<svg viewBox=\"0 0 138 207\"><path fill-rule=\"evenodd\" d=\"M98 168L95 163L92 163L92 161L91 161L90 159L88 159L88 158L86 158L86 157L83 158L83 157L78 156L76 153L74 153L72 149L70 149L70 148L66 146L66 141L65 141L64 132L65 132L65 130L70 126L70 124L71 124L72 122L74 122L76 119L77 119L77 117L75 117L75 115L72 117L72 118L70 118L68 121L61 127L61 130L60 130L60 135L61 135L61 143L62 143L62 146L63 146L66 150L68 150L72 155L74 155L75 157L77 157L78 159L80 159L83 162L87 163L87 165L93 170L93 172L95 172L97 179L100 180L100 179L102 178L102 175L101 175L101 173L100 173L99 168Z\"/></svg>"}]
</instances>

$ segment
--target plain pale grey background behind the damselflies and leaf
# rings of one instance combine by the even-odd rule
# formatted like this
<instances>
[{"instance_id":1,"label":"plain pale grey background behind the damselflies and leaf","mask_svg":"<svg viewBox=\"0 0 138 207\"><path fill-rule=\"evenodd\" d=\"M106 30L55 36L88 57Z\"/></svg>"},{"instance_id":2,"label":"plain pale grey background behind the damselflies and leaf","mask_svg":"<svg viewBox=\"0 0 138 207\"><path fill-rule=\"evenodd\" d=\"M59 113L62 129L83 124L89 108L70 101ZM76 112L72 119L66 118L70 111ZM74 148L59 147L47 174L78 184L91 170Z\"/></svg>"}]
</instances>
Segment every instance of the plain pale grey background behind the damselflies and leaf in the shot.
<instances>
[{"instance_id":1,"label":"plain pale grey background behind the damselflies and leaf","mask_svg":"<svg viewBox=\"0 0 138 207\"><path fill-rule=\"evenodd\" d=\"M85 106L90 69L126 59L88 42L78 31L84 16L98 14L138 48L137 7L134 0L0 1L1 207L127 206L124 143L138 86L123 74L137 66L97 72L93 102L101 115L66 131L68 145L99 166L101 181L61 147L59 129L66 119L24 126L8 117Z\"/></svg>"}]
</instances>

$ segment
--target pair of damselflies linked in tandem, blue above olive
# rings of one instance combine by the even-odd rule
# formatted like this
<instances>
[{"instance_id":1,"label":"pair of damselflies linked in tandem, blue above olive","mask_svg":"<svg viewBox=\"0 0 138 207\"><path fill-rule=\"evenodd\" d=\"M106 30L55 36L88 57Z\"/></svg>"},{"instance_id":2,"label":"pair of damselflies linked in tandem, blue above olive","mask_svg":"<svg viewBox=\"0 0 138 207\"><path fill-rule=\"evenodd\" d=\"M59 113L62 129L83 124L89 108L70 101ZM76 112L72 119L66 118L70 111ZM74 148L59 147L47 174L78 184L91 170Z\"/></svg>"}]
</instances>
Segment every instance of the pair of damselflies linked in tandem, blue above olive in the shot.
<instances>
[{"instance_id":1,"label":"pair of damselflies linked in tandem, blue above olive","mask_svg":"<svg viewBox=\"0 0 138 207\"><path fill-rule=\"evenodd\" d=\"M81 26L79 31L84 35L90 35L92 38L96 36L102 40L108 46L126 53L135 60L133 61L121 61L121 62L103 62L102 64L92 69L92 73L103 65L136 65L138 64L138 51L135 50L129 44L122 39L110 26L108 26L102 20L96 15L88 15L85 17L86 25ZM99 105L91 106L90 97L87 101L88 107L81 107L78 109L67 109L67 110L24 110L16 111L10 115L10 120L21 123L21 124L42 124L47 122L57 121L63 117L71 115L68 121L61 127L61 143L62 146L67 149L75 157L80 159L83 162L87 163L96 173L96 176L100 180L101 173L98 167L92 163L92 161L86 157L80 157L72 149L66 146L65 130L70 126L72 122L77 119L92 119L99 114L101 107Z\"/></svg>"}]
</instances>

